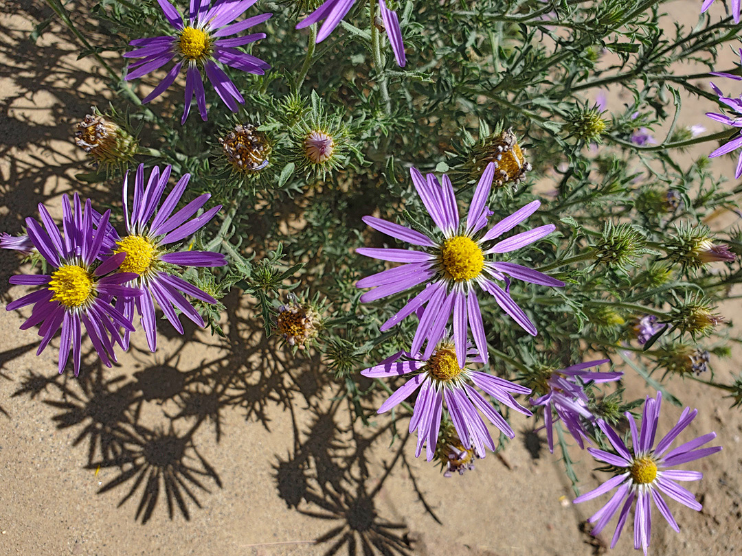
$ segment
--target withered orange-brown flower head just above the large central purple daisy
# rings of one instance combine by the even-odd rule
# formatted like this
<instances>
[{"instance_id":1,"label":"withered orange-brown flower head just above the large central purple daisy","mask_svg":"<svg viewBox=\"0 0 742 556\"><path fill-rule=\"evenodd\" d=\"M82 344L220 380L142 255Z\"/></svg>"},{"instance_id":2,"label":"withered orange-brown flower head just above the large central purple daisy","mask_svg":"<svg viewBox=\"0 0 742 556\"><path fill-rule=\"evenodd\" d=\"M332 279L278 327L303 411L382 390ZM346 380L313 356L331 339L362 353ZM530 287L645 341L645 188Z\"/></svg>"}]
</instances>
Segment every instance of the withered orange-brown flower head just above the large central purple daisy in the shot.
<instances>
[{"instance_id":1,"label":"withered orange-brown flower head just above the large central purple daisy","mask_svg":"<svg viewBox=\"0 0 742 556\"><path fill-rule=\"evenodd\" d=\"M472 176L481 176L490 162L496 164L494 184L498 187L510 182L522 182L526 173L533 168L525 159L525 149L518 145L512 129L490 136L476 148Z\"/></svg>"}]
</instances>

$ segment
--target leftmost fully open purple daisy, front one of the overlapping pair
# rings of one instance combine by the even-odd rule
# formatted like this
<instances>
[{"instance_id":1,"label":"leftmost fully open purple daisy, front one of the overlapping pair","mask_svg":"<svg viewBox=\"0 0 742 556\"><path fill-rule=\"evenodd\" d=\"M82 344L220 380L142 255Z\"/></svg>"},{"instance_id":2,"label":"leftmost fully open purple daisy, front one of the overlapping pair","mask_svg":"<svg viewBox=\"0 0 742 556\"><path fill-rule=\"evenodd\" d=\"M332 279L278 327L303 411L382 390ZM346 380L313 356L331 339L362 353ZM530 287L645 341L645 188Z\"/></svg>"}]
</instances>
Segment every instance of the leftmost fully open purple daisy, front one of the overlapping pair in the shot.
<instances>
[{"instance_id":1,"label":"leftmost fully open purple daisy, front one of the overlapping pair","mask_svg":"<svg viewBox=\"0 0 742 556\"><path fill-rule=\"evenodd\" d=\"M94 226L90 200L85 202L83 210L79 196L75 194L73 204L70 207L68 196L63 197L64 236L42 204L39 204L39 213L43 227L33 218L26 219L30 241L46 259L47 265L55 270L51 274L10 277L11 284L39 285L44 288L10 302L7 311L33 304L31 316L21 325L21 329L40 325L42 342L36 351L37 355L44 351L59 328L62 328L59 372L65 370L71 349L77 376L80 371L82 326L85 326L101 361L110 367L111 361L116 361L113 342L123 348L119 327L134 330L131 318L114 308L111 299L131 299L138 296L139 291L122 285L136 277L135 274L115 272L125 255L114 255L97 264L97 259L104 253L104 240L110 230L110 211L106 211L99 218L98 225ZM101 230L105 230L105 233L99 233Z\"/></svg>"}]
</instances>

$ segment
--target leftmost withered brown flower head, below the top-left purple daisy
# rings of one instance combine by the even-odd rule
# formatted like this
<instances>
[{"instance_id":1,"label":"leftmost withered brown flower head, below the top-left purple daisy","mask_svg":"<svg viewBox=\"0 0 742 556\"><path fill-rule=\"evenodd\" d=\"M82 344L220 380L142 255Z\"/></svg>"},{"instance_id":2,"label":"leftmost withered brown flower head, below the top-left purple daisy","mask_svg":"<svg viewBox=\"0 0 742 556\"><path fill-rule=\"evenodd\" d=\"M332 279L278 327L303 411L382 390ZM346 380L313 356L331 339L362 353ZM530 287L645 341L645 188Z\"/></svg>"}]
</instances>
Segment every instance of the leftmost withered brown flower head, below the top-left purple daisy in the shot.
<instances>
[{"instance_id":1,"label":"leftmost withered brown flower head, below the top-left purple daisy","mask_svg":"<svg viewBox=\"0 0 742 556\"><path fill-rule=\"evenodd\" d=\"M96 107L76 125L75 144L85 150L96 164L107 168L125 165L139 147L137 138L110 118L106 119Z\"/></svg>"}]
</instances>

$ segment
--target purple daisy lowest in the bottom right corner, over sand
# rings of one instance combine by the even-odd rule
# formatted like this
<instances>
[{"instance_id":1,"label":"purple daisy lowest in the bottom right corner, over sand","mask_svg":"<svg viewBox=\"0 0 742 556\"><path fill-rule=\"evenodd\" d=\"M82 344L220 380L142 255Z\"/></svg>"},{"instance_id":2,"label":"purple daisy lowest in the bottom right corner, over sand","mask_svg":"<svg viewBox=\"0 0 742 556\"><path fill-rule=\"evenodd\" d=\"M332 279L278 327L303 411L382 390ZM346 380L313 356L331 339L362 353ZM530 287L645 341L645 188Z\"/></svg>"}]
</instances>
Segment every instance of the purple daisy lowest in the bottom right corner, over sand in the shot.
<instances>
[{"instance_id":1,"label":"purple daisy lowest in the bottom right corner, over sand","mask_svg":"<svg viewBox=\"0 0 742 556\"><path fill-rule=\"evenodd\" d=\"M608 522L616 514L623 502L616 531L611 541L611 549L616 546L618 537L620 537L623 526L626 523L628 511L631 509L631 504L634 503L634 500L636 500L634 509L634 549L643 549L645 555L649 548L649 537L651 533L650 500L654 501L654 505L660 510L660 514L662 514L667 520L667 523L675 531L679 531L680 529L678 529L677 523L674 517L672 517L662 494L666 494L666 496L677 500L691 509L697 511L701 509L701 505L697 503L693 494L683 489L675 481L700 480L703 474L698 471L668 468L715 454L721 450L721 446L700 448L700 446L703 446L716 437L715 432L710 432L668 451L673 440L689 426L698 413L697 409L691 411L690 408L686 407L683 413L680 414L677 424L670 429L665 437L657 443L657 447L653 449L652 446L654 446L654 436L657 433L657 421L660 417L661 403L662 394L660 393L657 393L656 400L647 397L640 431L637 431L634 418L631 417L628 411L626 412L626 419L628 419L628 424L631 426L631 451L629 451L626 444L623 443L623 440L620 439L616 432L603 421L599 421L598 425L605 432L605 436L608 437L616 454L588 448L588 451L596 460L608 463L617 468L617 474L597 489L575 498L574 503L592 500L601 494L605 494L619 487L617 492L611 497L611 500L608 500L608 503L588 520L590 523L595 524L592 534L598 535L608 525Z\"/></svg>"}]
</instances>

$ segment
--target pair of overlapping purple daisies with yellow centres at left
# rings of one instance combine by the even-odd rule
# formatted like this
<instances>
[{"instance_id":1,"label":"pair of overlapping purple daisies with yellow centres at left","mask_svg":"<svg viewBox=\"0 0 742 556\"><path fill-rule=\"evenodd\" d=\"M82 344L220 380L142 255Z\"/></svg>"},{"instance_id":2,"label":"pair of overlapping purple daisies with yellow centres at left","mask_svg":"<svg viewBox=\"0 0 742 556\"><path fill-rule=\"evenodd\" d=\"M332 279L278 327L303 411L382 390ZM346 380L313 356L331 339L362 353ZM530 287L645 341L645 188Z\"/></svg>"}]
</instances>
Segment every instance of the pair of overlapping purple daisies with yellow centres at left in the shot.
<instances>
[{"instance_id":1,"label":"pair of overlapping purple daisies with yellow centres at left","mask_svg":"<svg viewBox=\"0 0 742 556\"><path fill-rule=\"evenodd\" d=\"M99 214L90 199L82 202L77 193L71 203L68 196L63 197L61 231L45 206L39 204L41 224L29 217L27 236L11 239L4 234L1 247L25 252L36 249L47 268L53 269L50 274L10 277L11 284L41 289L10 302L7 310L33 305L21 328L39 325L42 342L37 354L44 351L61 328L60 373L65 370L71 351L75 375L79 374L83 327L102 363L110 367L116 361L114 345L128 349L129 336L135 330L135 311L149 348L155 351L154 302L180 334L183 325L176 311L197 325L204 325L184 294L207 303L215 303L216 299L180 277L177 269L223 266L226 259L210 251L177 251L172 246L203 228L220 206L194 217L209 200L209 194L204 194L176 212L190 175L185 174L165 195L170 174L170 166L162 171L155 166L145 182L144 165L139 165L131 205L127 174L123 187L123 235L109 223L110 211Z\"/></svg>"}]
</instances>

